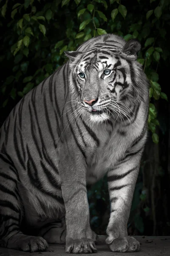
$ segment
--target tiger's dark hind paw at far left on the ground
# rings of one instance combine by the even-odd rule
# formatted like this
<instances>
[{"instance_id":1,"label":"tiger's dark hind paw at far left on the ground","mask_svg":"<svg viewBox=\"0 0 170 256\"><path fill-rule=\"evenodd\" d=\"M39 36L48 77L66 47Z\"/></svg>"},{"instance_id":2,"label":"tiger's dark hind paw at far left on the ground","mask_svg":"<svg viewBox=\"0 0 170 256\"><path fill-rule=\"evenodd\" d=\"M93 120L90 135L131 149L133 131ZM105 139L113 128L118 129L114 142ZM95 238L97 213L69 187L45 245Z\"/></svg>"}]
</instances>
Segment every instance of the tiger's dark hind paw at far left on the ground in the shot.
<instances>
[{"instance_id":1,"label":"tiger's dark hind paw at far left on the ground","mask_svg":"<svg viewBox=\"0 0 170 256\"><path fill-rule=\"evenodd\" d=\"M14 238L14 239L13 239ZM25 236L20 237L14 236L8 243L8 248L15 250L22 250L24 252L37 252L44 251L48 248L48 243L40 236ZM17 241L16 241L17 240Z\"/></svg>"}]
</instances>

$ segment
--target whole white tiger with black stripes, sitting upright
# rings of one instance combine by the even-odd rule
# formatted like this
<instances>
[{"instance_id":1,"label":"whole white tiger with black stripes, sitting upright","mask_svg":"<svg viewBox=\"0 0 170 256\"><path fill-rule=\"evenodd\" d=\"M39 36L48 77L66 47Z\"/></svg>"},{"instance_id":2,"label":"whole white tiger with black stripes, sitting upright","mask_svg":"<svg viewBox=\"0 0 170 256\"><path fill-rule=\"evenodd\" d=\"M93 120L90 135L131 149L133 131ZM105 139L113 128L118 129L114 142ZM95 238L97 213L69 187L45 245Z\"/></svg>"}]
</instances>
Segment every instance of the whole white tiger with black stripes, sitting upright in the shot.
<instances>
[{"instance_id":1,"label":"whole white tiger with black stripes, sitting upright","mask_svg":"<svg viewBox=\"0 0 170 256\"><path fill-rule=\"evenodd\" d=\"M106 243L136 252L127 221L147 139L148 82L140 44L116 35L85 41L31 90L0 130L0 245L36 252L48 243L95 253L87 183L105 174Z\"/></svg>"}]
</instances>

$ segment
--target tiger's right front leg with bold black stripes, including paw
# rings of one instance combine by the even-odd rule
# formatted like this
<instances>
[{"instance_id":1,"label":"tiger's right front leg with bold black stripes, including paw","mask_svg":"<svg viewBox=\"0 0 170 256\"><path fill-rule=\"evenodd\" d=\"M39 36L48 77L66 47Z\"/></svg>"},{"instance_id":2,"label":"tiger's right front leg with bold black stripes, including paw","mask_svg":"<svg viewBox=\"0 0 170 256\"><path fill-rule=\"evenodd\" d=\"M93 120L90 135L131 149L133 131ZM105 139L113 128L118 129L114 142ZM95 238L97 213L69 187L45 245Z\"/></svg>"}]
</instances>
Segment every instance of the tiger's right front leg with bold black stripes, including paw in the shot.
<instances>
[{"instance_id":1,"label":"tiger's right front leg with bold black stripes, including paw","mask_svg":"<svg viewBox=\"0 0 170 256\"><path fill-rule=\"evenodd\" d=\"M136 252L140 248L139 241L127 236L127 221L139 173L140 158L140 154L127 157L117 168L108 172L111 215L106 231L106 243L113 252Z\"/></svg>"}]
</instances>

